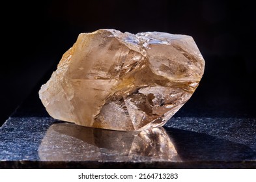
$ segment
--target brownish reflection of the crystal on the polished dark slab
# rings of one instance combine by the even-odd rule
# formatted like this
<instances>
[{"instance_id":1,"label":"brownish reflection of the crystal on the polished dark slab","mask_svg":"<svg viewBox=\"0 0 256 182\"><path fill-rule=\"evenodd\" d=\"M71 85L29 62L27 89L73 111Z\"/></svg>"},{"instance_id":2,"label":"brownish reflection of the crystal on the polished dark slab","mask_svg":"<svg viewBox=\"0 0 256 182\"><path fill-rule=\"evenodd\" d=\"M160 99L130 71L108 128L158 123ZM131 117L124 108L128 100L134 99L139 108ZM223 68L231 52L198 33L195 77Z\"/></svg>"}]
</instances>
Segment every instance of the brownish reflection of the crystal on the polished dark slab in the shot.
<instances>
[{"instance_id":1,"label":"brownish reflection of the crystal on the polished dark slab","mask_svg":"<svg viewBox=\"0 0 256 182\"><path fill-rule=\"evenodd\" d=\"M111 131L55 123L44 136L42 161L181 161L162 127L147 131Z\"/></svg>"}]
</instances>

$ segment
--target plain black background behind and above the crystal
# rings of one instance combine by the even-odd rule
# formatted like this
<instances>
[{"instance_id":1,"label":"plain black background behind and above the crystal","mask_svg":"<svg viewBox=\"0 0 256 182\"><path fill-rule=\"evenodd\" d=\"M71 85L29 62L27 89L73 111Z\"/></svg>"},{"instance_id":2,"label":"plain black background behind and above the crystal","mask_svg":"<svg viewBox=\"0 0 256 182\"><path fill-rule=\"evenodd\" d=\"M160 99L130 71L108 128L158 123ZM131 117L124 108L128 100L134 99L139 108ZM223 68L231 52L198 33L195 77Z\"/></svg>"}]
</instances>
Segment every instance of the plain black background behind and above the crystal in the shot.
<instances>
[{"instance_id":1,"label":"plain black background behind and above the crystal","mask_svg":"<svg viewBox=\"0 0 256 182\"><path fill-rule=\"evenodd\" d=\"M256 115L256 18L246 1L10 1L1 8L8 13L1 14L0 125L49 79L80 32L103 28L193 36L205 75L176 116Z\"/></svg>"}]
</instances>

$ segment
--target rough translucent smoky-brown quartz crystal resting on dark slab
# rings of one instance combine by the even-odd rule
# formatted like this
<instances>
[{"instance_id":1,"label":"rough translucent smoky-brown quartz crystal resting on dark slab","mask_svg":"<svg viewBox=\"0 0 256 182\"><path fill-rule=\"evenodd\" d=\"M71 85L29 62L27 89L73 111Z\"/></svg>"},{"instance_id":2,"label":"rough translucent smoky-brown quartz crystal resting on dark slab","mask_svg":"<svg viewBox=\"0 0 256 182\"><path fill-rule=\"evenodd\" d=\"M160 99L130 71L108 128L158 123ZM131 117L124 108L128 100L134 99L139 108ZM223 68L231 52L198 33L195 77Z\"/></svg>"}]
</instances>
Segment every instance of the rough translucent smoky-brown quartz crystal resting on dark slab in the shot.
<instances>
[{"instance_id":1,"label":"rough translucent smoky-brown quartz crystal resting on dark slab","mask_svg":"<svg viewBox=\"0 0 256 182\"><path fill-rule=\"evenodd\" d=\"M39 96L55 119L113 130L164 125L190 99L205 60L191 36L81 33Z\"/></svg>"}]
</instances>

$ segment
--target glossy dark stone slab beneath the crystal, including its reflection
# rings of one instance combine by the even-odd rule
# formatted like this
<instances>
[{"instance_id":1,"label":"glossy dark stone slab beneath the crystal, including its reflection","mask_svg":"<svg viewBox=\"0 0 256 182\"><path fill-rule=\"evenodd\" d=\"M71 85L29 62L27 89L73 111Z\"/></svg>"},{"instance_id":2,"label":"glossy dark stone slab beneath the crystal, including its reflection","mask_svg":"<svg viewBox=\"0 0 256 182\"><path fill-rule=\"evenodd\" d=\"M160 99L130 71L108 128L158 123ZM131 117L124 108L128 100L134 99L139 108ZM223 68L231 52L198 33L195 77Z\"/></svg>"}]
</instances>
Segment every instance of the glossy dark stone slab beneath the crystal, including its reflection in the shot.
<instances>
[{"instance_id":1,"label":"glossy dark stone slab beneath the crystal, including its reflection","mask_svg":"<svg viewBox=\"0 0 256 182\"><path fill-rule=\"evenodd\" d=\"M254 116L188 104L148 133L92 129L48 116L37 90L0 128L0 168L256 168Z\"/></svg>"}]
</instances>

